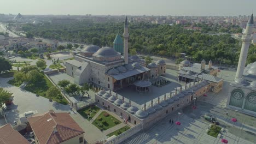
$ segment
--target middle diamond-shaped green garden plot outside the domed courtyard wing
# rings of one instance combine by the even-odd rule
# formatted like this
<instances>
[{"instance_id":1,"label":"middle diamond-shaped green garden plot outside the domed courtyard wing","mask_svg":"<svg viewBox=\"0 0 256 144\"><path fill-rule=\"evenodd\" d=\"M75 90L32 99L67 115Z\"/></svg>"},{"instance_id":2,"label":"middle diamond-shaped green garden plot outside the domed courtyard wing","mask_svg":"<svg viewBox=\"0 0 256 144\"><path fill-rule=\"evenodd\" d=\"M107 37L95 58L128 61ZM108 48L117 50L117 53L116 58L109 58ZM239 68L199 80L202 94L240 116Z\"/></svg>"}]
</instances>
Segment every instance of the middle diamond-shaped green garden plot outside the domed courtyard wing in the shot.
<instances>
[{"instance_id":1,"label":"middle diamond-shaped green garden plot outside the domed courtyard wing","mask_svg":"<svg viewBox=\"0 0 256 144\"><path fill-rule=\"evenodd\" d=\"M104 113L107 112L101 112L101 114L95 119L95 121L92 122L92 124L94 124L98 129L107 130L121 123L117 118L109 115L109 113L109 116L104 116Z\"/></svg>"}]
</instances>

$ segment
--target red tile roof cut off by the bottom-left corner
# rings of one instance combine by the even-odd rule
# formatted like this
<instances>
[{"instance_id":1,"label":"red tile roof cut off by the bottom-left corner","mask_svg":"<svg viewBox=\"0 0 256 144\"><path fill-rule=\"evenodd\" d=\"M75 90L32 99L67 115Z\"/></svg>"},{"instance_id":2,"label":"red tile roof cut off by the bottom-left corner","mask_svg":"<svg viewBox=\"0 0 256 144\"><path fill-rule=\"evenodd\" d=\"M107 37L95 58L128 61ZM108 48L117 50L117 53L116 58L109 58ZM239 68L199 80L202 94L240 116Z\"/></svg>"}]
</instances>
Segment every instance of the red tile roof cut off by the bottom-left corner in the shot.
<instances>
[{"instance_id":1,"label":"red tile roof cut off by the bottom-left corner","mask_svg":"<svg viewBox=\"0 0 256 144\"><path fill-rule=\"evenodd\" d=\"M25 137L23 137L18 131L14 130L10 124L0 127L0 144L29 144Z\"/></svg>"}]
</instances>

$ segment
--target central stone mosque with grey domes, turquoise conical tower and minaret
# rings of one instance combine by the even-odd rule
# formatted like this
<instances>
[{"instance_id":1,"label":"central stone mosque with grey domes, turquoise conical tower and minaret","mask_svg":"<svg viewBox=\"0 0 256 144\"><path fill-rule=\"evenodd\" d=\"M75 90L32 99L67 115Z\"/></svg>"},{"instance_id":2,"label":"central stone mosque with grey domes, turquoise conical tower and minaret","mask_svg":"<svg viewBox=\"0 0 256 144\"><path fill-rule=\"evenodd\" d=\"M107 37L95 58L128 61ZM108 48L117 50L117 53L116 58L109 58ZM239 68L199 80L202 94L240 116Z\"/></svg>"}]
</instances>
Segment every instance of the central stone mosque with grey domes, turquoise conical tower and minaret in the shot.
<instances>
[{"instance_id":1,"label":"central stone mosque with grey domes, turquoise conical tower and minaret","mask_svg":"<svg viewBox=\"0 0 256 144\"><path fill-rule=\"evenodd\" d=\"M117 34L113 48L88 45L83 50L74 52L74 59L65 61L66 73L74 77L74 82L79 85L94 83L98 87L111 91L117 91L136 81L148 81L165 74L166 63L162 59L154 63L153 67L149 64L147 68L144 59L137 55L128 56L127 17L125 17L123 37L124 43L121 36Z\"/></svg>"}]
</instances>

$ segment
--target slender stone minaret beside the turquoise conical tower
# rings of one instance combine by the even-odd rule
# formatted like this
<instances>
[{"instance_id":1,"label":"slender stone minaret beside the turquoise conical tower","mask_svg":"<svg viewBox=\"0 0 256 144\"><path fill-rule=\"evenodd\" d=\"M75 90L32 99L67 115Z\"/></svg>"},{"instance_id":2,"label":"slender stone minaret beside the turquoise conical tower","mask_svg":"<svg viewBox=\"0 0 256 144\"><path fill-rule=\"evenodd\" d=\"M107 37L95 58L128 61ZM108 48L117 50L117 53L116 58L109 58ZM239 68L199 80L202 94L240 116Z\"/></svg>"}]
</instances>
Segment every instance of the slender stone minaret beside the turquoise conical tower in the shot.
<instances>
[{"instance_id":1,"label":"slender stone minaret beside the turquoise conical tower","mask_svg":"<svg viewBox=\"0 0 256 144\"><path fill-rule=\"evenodd\" d=\"M125 64L128 64L128 39L129 39L129 33L128 33L128 22L127 22L127 16L125 16L125 26L124 26L124 61Z\"/></svg>"}]
</instances>

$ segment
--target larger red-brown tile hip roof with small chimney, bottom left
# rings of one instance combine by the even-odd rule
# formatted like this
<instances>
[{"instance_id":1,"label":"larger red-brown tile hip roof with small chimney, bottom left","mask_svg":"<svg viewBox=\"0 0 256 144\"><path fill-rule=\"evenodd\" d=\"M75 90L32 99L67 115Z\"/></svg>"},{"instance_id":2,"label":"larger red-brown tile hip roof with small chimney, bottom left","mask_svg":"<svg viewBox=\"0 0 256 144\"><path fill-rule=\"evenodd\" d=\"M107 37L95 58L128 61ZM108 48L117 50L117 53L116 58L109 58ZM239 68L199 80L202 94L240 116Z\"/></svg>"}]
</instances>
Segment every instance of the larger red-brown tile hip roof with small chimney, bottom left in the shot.
<instances>
[{"instance_id":1,"label":"larger red-brown tile hip roof with small chimney, bottom left","mask_svg":"<svg viewBox=\"0 0 256 144\"><path fill-rule=\"evenodd\" d=\"M43 116L30 117L28 122L30 122L34 135L36 135L40 144L61 143L84 133L83 129L67 112L48 112ZM55 133L54 127L57 129Z\"/></svg>"}]
</instances>

